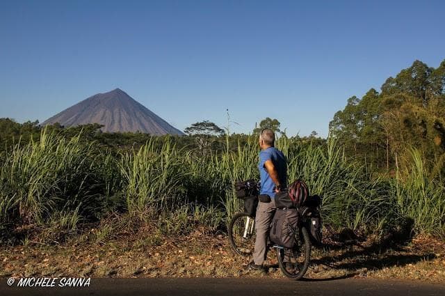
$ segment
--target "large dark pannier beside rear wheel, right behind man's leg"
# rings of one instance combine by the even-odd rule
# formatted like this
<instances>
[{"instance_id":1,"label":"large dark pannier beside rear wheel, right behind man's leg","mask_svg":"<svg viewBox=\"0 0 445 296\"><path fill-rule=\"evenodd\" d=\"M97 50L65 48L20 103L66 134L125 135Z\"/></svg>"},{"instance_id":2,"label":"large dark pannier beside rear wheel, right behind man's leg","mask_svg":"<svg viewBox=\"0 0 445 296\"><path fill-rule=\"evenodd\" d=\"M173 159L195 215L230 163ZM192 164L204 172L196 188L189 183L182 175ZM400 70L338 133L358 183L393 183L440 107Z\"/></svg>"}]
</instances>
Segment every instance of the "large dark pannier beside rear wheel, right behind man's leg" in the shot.
<instances>
[{"instance_id":1,"label":"large dark pannier beside rear wheel, right behind man's leg","mask_svg":"<svg viewBox=\"0 0 445 296\"><path fill-rule=\"evenodd\" d=\"M281 247L292 248L298 235L298 210L277 208L270 224L270 240Z\"/></svg>"}]
</instances>

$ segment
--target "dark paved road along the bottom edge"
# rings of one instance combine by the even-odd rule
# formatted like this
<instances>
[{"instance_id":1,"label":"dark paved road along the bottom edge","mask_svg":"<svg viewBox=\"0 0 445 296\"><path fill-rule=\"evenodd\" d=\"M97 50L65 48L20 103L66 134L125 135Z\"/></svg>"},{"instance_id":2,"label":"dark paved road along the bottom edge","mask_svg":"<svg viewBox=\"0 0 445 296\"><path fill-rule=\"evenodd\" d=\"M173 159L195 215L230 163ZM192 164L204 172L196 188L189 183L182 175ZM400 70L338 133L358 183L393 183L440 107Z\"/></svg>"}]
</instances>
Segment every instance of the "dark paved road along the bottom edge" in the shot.
<instances>
[{"instance_id":1,"label":"dark paved road along the bottom edge","mask_svg":"<svg viewBox=\"0 0 445 296\"><path fill-rule=\"evenodd\" d=\"M17 281L16 281L17 283ZM57 286L57 285L56 285ZM444 296L445 284L417 281L339 279L290 281L288 279L96 279L83 288L22 288L1 279L0 295L229 295L229 296Z\"/></svg>"}]
</instances>

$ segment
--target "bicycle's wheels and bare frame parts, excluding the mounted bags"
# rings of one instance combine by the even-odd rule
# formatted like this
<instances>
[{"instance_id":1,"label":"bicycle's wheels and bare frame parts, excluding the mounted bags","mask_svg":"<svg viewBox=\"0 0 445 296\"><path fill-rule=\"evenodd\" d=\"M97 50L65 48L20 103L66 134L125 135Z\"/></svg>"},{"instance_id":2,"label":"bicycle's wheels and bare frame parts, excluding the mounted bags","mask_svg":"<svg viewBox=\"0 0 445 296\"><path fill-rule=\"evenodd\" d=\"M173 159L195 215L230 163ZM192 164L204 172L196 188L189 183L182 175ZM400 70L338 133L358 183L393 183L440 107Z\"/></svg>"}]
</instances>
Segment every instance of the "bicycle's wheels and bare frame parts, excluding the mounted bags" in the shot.
<instances>
[{"instance_id":1,"label":"bicycle's wheels and bare frame parts, excluding the mounted bags","mask_svg":"<svg viewBox=\"0 0 445 296\"><path fill-rule=\"evenodd\" d=\"M299 280L305 275L309 267L312 244L308 229L310 212L298 210L300 216L298 233L295 231L295 247L286 248L277 244L268 243L268 248L276 251L278 265L281 272L289 279ZM255 242L255 219L247 212L237 212L231 219L228 227L229 241L236 252L241 256L250 256L253 253Z\"/></svg>"}]
</instances>

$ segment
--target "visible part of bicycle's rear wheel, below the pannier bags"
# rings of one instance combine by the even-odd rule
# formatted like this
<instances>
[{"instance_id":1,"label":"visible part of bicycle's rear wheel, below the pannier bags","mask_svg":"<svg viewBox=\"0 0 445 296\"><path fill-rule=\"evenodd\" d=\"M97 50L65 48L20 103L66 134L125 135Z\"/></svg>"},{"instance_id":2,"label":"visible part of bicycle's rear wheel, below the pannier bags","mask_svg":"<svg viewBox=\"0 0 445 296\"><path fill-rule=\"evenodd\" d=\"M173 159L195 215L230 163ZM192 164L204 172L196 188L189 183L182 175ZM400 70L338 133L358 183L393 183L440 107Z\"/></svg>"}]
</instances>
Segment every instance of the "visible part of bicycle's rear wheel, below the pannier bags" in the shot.
<instances>
[{"instance_id":1,"label":"visible part of bicycle's rear wheel, below the pannier bags","mask_svg":"<svg viewBox=\"0 0 445 296\"><path fill-rule=\"evenodd\" d=\"M277 248L278 265L289 279L301 279L307 272L311 259L311 240L305 227L301 228L296 247Z\"/></svg>"}]
</instances>

